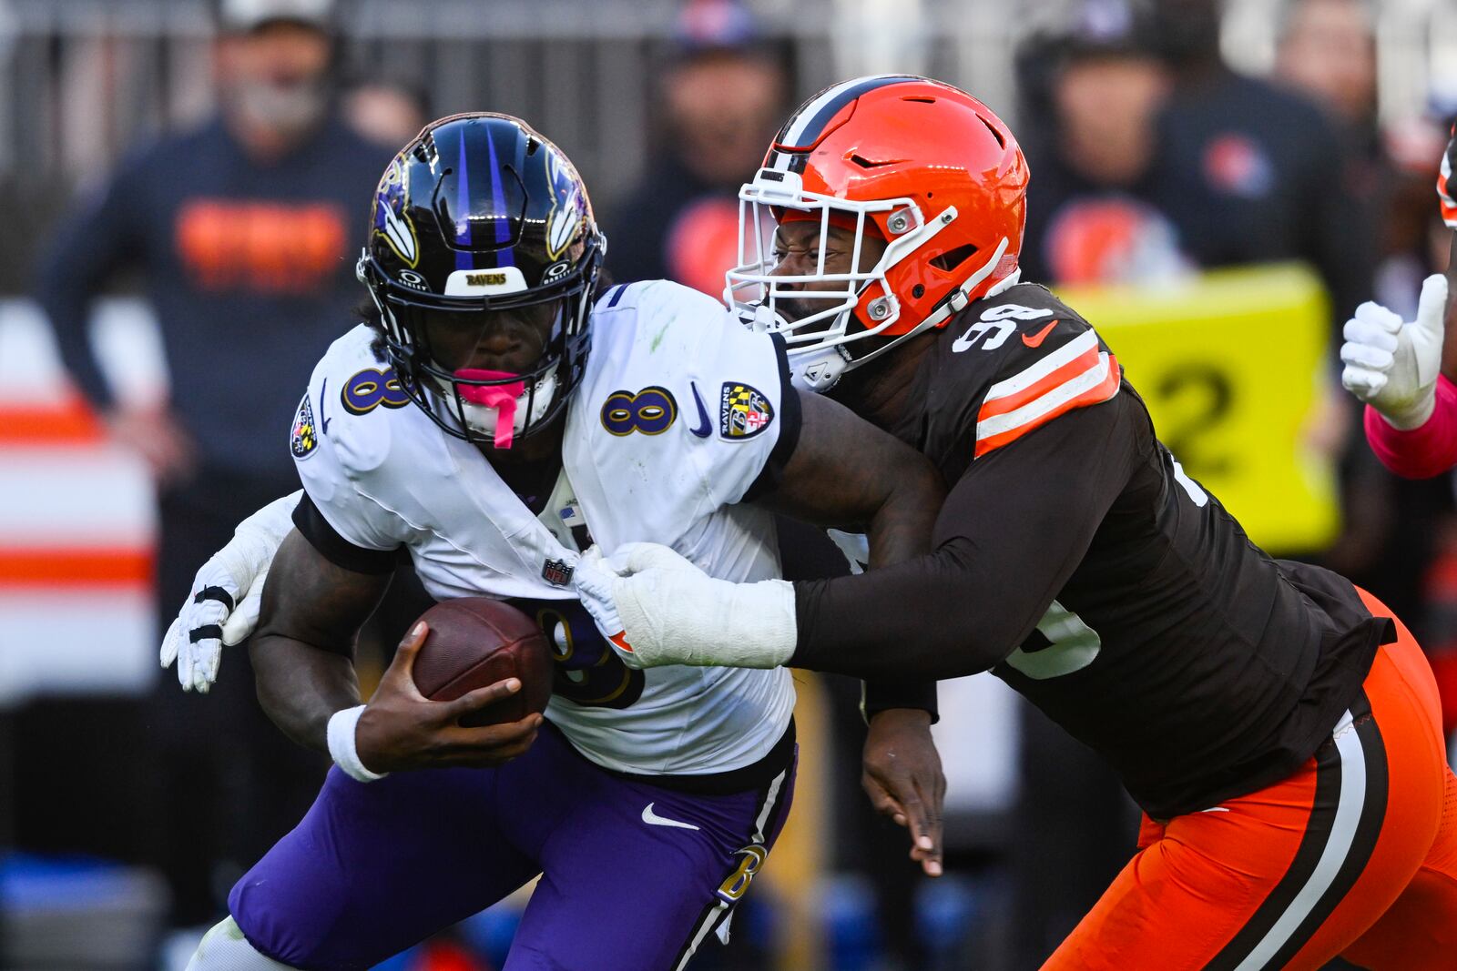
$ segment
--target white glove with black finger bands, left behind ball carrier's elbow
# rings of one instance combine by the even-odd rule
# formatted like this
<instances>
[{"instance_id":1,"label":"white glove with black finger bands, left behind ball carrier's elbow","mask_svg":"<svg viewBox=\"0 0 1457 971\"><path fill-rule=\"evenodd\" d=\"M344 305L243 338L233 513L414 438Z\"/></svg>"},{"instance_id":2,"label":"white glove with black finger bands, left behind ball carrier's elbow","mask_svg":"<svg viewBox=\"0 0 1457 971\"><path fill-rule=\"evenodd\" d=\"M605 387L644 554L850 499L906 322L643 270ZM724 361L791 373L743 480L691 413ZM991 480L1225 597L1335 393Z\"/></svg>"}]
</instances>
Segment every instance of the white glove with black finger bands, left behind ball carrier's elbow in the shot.
<instances>
[{"instance_id":1,"label":"white glove with black finger bands, left behind ball carrier's elbow","mask_svg":"<svg viewBox=\"0 0 1457 971\"><path fill-rule=\"evenodd\" d=\"M217 680L223 645L235 646L258 626L264 581L303 491L274 499L237 524L227 546L213 553L192 579L192 594L162 638L162 667L178 662L184 691L207 693Z\"/></svg>"}]
</instances>

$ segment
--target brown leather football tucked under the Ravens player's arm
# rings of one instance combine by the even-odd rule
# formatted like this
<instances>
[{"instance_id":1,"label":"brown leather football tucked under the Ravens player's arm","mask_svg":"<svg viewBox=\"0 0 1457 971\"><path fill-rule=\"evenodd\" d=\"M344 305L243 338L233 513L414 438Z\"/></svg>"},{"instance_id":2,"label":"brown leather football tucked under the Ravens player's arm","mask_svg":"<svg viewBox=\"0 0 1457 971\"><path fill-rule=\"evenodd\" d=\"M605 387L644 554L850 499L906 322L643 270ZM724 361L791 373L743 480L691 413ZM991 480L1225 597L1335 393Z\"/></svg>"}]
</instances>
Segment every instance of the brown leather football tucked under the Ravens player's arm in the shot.
<instances>
[{"instance_id":1,"label":"brown leather football tucked under the Ravens player's arm","mask_svg":"<svg viewBox=\"0 0 1457 971\"><path fill-rule=\"evenodd\" d=\"M450 702L508 677L522 690L460 719L498 725L541 712L551 699L552 659L546 635L516 607L490 597L446 600L420 616L430 632L415 657L415 687Z\"/></svg>"}]
</instances>

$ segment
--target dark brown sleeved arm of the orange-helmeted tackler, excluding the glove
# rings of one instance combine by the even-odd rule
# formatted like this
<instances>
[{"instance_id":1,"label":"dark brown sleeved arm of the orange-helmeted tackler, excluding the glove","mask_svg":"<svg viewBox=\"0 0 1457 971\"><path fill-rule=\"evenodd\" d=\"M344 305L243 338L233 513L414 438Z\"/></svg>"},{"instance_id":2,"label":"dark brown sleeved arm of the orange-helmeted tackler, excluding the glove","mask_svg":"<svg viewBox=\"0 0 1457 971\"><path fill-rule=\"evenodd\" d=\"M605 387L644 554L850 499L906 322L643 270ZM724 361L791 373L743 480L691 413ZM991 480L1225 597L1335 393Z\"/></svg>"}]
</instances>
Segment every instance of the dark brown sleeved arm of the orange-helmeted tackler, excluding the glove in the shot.
<instances>
[{"instance_id":1,"label":"dark brown sleeved arm of the orange-helmeted tackler, excluding the glove","mask_svg":"<svg viewBox=\"0 0 1457 971\"><path fill-rule=\"evenodd\" d=\"M979 459L941 507L934 553L794 585L790 664L944 680L1005 658L1083 560L1147 421L1136 399L1115 399Z\"/></svg>"}]
</instances>

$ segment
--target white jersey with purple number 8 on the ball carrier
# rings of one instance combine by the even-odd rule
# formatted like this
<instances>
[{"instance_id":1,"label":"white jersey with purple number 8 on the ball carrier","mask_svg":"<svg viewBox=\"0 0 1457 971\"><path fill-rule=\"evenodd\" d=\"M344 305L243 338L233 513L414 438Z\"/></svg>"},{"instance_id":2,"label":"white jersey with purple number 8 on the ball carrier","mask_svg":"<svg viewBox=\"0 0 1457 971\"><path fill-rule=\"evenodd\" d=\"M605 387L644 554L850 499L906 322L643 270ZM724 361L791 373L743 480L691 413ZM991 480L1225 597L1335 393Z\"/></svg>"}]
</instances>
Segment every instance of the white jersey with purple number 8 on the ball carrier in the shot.
<instances>
[{"instance_id":1,"label":"white jersey with purple number 8 on the ball carrier","mask_svg":"<svg viewBox=\"0 0 1457 971\"><path fill-rule=\"evenodd\" d=\"M631 671L570 575L589 542L610 553L650 540L723 579L778 576L772 517L736 505L777 475L798 431L771 338L678 284L609 290L539 517L475 445L408 402L373 338L358 326L334 342L294 422L299 475L334 531L367 550L408 547L437 600L490 595L533 613L557 651L546 716L597 764L704 774L763 758L794 706L788 671Z\"/></svg>"}]
</instances>

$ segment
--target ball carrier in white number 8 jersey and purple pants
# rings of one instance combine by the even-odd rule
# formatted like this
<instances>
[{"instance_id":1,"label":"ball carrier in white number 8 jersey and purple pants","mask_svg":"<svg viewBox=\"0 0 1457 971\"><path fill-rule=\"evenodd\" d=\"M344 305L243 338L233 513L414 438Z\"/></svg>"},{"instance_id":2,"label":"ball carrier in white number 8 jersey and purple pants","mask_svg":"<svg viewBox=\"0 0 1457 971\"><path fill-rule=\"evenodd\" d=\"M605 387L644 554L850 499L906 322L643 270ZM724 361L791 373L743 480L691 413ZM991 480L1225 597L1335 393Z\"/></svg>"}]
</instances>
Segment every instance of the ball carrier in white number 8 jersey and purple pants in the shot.
<instances>
[{"instance_id":1,"label":"ball carrier in white number 8 jersey and purple pants","mask_svg":"<svg viewBox=\"0 0 1457 971\"><path fill-rule=\"evenodd\" d=\"M366 968L538 873L508 971L680 968L727 929L793 792L790 675L629 670L577 603L580 550L653 540L724 579L772 578L774 508L864 528L889 563L928 547L941 483L801 397L782 341L717 301L663 281L597 294L603 245L571 163L506 115L428 125L380 181L358 263L379 319L329 348L299 403L305 495L240 527L163 646L205 690L271 559L258 696L337 763L233 888L197 971ZM401 550L436 598L536 616L558 661L545 719L459 724L516 680L425 700L423 625L358 703L353 639ZM879 802L935 872L934 686L884 686L868 708Z\"/></svg>"}]
</instances>

